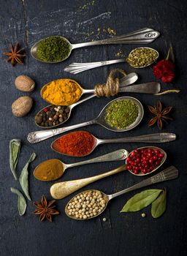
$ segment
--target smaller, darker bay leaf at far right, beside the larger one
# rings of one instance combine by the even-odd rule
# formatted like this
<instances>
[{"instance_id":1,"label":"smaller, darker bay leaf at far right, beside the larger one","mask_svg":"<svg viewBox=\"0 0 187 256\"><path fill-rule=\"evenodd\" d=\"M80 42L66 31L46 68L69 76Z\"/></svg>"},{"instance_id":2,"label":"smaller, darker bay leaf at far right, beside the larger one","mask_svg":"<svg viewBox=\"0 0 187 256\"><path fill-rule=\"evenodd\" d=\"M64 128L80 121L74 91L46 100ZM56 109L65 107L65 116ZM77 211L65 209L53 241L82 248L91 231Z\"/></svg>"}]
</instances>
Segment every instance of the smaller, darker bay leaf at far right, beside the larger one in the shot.
<instances>
[{"instance_id":1,"label":"smaller, darker bay leaf at far right, beside the larger one","mask_svg":"<svg viewBox=\"0 0 187 256\"><path fill-rule=\"evenodd\" d=\"M151 215L153 218L159 218L167 208L167 191L164 189L159 197L154 200L151 206Z\"/></svg>"}]
</instances>

